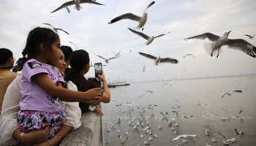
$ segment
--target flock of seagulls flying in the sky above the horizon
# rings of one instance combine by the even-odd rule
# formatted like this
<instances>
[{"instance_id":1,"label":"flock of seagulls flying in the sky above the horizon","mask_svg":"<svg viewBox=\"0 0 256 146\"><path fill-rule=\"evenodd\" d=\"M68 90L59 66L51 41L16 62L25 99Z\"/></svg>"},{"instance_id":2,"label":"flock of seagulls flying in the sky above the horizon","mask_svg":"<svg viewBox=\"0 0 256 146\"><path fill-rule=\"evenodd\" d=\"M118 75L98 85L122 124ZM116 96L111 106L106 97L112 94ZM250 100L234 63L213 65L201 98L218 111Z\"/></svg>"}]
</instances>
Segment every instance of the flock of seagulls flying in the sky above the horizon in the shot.
<instances>
[{"instance_id":1,"label":"flock of seagulls flying in the sky above the horizon","mask_svg":"<svg viewBox=\"0 0 256 146\"><path fill-rule=\"evenodd\" d=\"M71 5L74 5L74 4L75 4L75 8L77 10L80 10L81 9L80 4L83 4L83 3L105 6L104 4L100 4L100 3L96 2L96 0L72 0L72 1L65 2L64 4L62 4L57 9L53 10L53 12L59 11L60 9L64 9L64 8L67 9L67 12L70 12L68 7L71 6ZM145 26L145 24L148 20L148 13L146 11L153 4L155 4L155 1L152 1L150 4L148 4L148 6L144 10L142 16L138 16L138 15L135 15L135 14L129 12L129 13L125 13L123 15L119 15L118 17L114 18L113 20L110 20L110 22L108 22L108 23L112 24L112 23L118 22L119 20L129 19L129 20L133 20L133 21L138 22L138 26L136 26L134 29L141 29L143 31L144 26ZM51 13L53 13L53 12L51 12ZM51 26L49 23L44 23L44 24L48 25L48 26ZM154 36L150 37L150 36L140 32L140 31L135 31L132 28L128 28L128 29L129 29L129 31L132 31L132 33L137 34L138 36L143 37L144 39L146 39L147 40L147 42L145 43L146 45L150 45L151 42L154 41L154 39L157 39L159 37L162 37L162 36L170 33L170 31L169 31L166 34L159 34L156 37L154 37ZM58 30L64 31L61 28L55 28L55 27L53 27L53 30L54 31L58 31ZM67 33L67 31L64 31L64 32L66 34L69 34L69 33ZM227 47L230 47L230 48L233 48L233 49L236 49L236 50L241 50L244 53L246 53L247 55L250 55L253 58L255 58L256 57L256 47L254 45L250 44L249 42L247 42L244 39L228 39L228 36L229 36L230 32L231 31L226 32L222 37L219 37L215 34L211 34L211 33L208 32L208 33L196 35L196 36L193 36L193 37L188 37L185 40L188 40L188 39L206 39L206 38L208 38L212 43L204 43L204 48L206 50L206 53L210 54L211 56L217 55L217 58L219 57L219 53L222 53L221 47L224 46L224 45L227 45ZM254 35L252 36L252 35L249 35L249 34L245 34L245 36L249 37L249 39L253 39L255 37ZM178 64L178 61L176 59L173 59L173 58L162 58L161 59L160 57L155 57L153 55L146 54L146 53L139 53L139 54L143 55L146 58L154 59L155 65L158 65L159 62L161 62L161 63L170 63L170 64ZM192 54L187 54L187 55L192 55ZM185 55L184 58L187 55ZM104 59L105 62L108 64L108 61L110 59L118 58L120 56L120 54L115 55L113 58L109 58L109 59L103 58L100 55L97 55L97 56L99 58ZM192 55L192 56L195 58L195 55Z\"/></svg>"}]
</instances>

